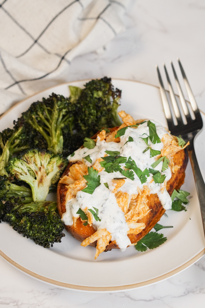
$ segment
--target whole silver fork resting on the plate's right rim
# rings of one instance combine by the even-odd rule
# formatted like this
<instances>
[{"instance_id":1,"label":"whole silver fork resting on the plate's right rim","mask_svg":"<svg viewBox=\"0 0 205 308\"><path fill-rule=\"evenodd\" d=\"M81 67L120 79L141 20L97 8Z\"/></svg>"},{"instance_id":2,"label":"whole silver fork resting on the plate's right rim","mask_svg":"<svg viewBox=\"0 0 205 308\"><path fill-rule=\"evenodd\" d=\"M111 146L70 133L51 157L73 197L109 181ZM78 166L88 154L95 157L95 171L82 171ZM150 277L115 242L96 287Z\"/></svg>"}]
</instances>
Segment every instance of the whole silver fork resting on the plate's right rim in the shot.
<instances>
[{"instance_id":1,"label":"whole silver fork resting on the plate's right rim","mask_svg":"<svg viewBox=\"0 0 205 308\"><path fill-rule=\"evenodd\" d=\"M179 98L180 100L176 100L169 75L166 69L166 66L164 64L164 70L166 73L167 81L168 81L168 87L170 92L171 101L168 101L166 91L164 89L164 85L162 82L162 78L160 75L160 71L158 66L157 67L157 73L159 77L160 82L160 93L162 97L162 102L164 106L164 113L167 119L168 128L171 131L172 135L179 136L184 139L186 142L190 142L190 144L187 146L188 155L191 162L192 171L194 174L195 184L196 184L196 191L199 198L199 205L201 209L201 215L202 215L202 221L203 221L203 230L204 230L204 236L205 236L205 184L204 180L201 174L201 171L199 169L199 164L196 158L195 150L194 150L194 138L199 133L199 131L203 127L203 121L200 115L199 108L197 107L194 95L191 91L190 85L188 83L187 77L185 75L185 72L183 70L183 67L181 65L181 62L179 61L179 67L182 72L184 85L187 90L187 94L190 100L191 105L188 108L187 102L184 99L182 89L179 84L179 80L177 78L174 66L171 62L171 67L174 73L175 81L177 90L179 92Z\"/></svg>"}]
</instances>

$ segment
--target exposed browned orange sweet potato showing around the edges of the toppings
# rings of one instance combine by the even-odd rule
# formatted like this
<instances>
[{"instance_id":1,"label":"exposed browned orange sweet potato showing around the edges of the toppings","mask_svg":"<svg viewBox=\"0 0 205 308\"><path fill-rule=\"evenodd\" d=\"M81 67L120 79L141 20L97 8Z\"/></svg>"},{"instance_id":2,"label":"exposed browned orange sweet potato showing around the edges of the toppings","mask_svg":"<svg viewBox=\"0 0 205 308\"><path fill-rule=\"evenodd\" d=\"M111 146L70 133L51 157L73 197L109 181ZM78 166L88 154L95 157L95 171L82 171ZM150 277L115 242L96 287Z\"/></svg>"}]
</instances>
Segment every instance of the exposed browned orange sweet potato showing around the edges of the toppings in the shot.
<instances>
[{"instance_id":1,"label":"exposed browned orange sweet potato showing around the edges of the toppings","mask_svg":"<svg viewBox=\"0 0 205 308\"><path fill-rule=\"evenodd\" d=\"M174 164L179 166L177 172L172 173L171 179L167 182L167 191L171 194L173 193L174 189L179 189L184 182L185 177L185 169L188 163L188 154L187 150L180 150L178 151L174 158ZM68 175L69 168L73 164L81 164L81 162L72 162L69 163L66 167L63 175ZM57 208L59 215L62 217L62 214L65 213L65 195L66 195L66 185L62 183L58 183L57 186ZM151 194L148 196L148 207L152 209L143 219L139 220L138 222L144 222L146 227L143 229L139 234L128 234L128 237L131 243L137 243L140 241L153 227L156 223L160 220L162 215L165 213L165 209L161 205L161 202L157 196L157 194ZM93 233L95 233L95 229L92 226L84 226L83 222L80 218L77 219L76 227L74 226L67 226L65 225L65 229L78 241L83 241L85 238L89 237ZM96 246L96 242L91 244L92 246ZM117 248L119 249L118 245L115 241L110 242L109 245L106 247L105 251Z\"/></svg>"}]
</instances>

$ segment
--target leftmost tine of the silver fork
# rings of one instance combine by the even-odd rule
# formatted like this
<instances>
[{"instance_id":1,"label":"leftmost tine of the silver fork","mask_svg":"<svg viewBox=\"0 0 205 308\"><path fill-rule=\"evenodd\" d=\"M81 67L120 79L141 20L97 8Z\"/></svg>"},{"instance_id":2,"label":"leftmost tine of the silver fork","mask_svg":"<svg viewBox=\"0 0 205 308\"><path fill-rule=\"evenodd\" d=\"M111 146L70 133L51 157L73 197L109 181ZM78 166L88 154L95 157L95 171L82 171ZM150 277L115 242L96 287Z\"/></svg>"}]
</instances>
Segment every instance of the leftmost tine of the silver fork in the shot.
<instances>
[{"instance_id":1,"label":"leftmost tine of the silver fork","mask_svg":"<svg viewBox=\"0 0 205 308\"><path fill-rule=\"evenodd\" d=\"M171 125L175 125L175 123L177 124L177 120L176 120L174 112L173 112L173 115L174 115L173 118L174 119L172 118L172 115L171 115L171 107L172 106L169 105L167 95L166 95L166 91L164 89L162 77L161 77L161 74L160 74L160 70L159 70L159 67L157 65L156 65L156 69L157 69L157 74L158 74L158 78L159 78L159 82L160 82L160 93L161 93L161 97L162 97L164 113L165 113L165 117L167 119L167 123L168 123L168 127L169 127L169 124L171 124Z\"/></svg>"}]
</instances>

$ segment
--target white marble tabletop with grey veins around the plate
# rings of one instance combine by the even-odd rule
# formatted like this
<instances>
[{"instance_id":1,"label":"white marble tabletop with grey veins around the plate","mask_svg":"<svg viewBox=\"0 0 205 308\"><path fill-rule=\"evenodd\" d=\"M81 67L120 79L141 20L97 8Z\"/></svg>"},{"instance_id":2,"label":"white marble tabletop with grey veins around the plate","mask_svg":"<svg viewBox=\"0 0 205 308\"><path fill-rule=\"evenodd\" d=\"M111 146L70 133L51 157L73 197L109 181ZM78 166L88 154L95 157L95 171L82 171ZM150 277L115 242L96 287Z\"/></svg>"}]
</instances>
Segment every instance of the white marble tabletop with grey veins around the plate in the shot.
<instances>
[{"instance_id":1,"label":"white marble tabletop with grey veins around the plate","mask_svg":"<svg viewBox=\"0 0 205 308\"><path fill-rule=\"evenodd\" d=\"M126 14L126 31L105 48L71 63L68 81L131 79L158 85L155 65L176 58L185 68L197 103L205 112L204 0L134 0ZM191 245L191 243L190 243ZM155 285L118 293L64 290L28 277L0 259L0 307L144 307L189 308L205 304L205 257Z\"/></svg>"}]
</instances>

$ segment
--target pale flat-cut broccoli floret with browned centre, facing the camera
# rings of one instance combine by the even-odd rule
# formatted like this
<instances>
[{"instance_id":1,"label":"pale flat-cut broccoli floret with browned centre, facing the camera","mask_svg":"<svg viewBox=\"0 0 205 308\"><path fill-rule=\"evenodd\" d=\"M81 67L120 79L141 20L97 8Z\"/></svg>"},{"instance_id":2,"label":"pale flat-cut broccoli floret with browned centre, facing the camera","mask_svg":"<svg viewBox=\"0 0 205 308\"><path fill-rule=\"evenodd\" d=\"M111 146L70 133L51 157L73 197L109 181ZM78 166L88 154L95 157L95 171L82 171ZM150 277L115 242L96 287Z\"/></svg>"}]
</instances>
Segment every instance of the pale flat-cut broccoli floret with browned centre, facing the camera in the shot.
<instances>
[{"instance_id":1,"label":"pale flat-cut broccoli floret with browned centre, facing the camera","mask_svg":"<svg viewBox=\"0 0 205 308\"><path fill-rule=\"evenodd\" d=\"M30 149L13 157L6 171L30 185L34 201L44 201L49 187L57 182L67 163L61 154Z\"/></svg>"}]
</instances>

